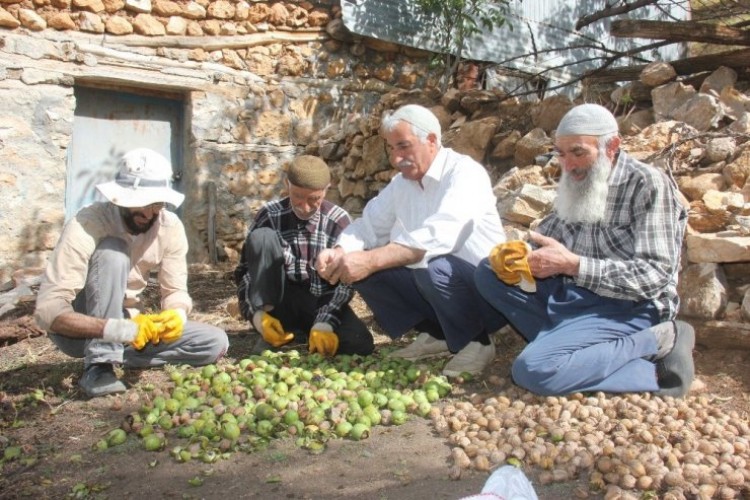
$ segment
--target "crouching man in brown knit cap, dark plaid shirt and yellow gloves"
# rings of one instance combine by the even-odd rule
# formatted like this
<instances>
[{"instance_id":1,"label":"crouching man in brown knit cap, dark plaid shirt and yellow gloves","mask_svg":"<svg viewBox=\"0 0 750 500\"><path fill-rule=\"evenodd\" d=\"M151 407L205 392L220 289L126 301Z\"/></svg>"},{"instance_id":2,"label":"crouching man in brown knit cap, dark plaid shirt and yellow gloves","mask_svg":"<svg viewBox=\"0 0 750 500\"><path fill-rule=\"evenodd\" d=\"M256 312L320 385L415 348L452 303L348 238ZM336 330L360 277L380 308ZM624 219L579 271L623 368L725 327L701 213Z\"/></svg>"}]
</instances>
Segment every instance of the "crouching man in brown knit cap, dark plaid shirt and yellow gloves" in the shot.
<instances>
[{"instance_id":1,"label":"crouching man in brown knit cap, dark plaid shirt and yellow gloves","mask_svg":"<svg viewBox=\"0 0 750 500\"><path fill-rule=\"evenodd\" d=\"M295 337L325 356L370 354L373 338L349 307L351 286L334 286L315 259L351 222L325 199L331 176L320 158L296 158L287 171L289 196L260 209L234 272L240 310L263 343L281 347Z\"/></svg>"}]
</instances>

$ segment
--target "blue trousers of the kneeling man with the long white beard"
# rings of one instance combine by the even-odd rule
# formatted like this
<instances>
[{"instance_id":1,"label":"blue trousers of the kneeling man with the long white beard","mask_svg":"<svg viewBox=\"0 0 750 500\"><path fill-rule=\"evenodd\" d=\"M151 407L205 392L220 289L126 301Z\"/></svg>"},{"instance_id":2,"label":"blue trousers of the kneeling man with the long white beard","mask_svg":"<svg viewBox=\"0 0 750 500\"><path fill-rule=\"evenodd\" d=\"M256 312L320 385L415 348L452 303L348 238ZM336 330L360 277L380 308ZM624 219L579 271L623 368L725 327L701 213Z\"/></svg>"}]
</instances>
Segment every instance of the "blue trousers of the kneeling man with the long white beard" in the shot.
<instances>
[{"instance_id":1,"label":"blue trousers of the kneeling man with the long white beard","mask_svg":"<svg viewBox=\"0 0 750 500\"><path fill-rule=\"evenodd\" d=\"M479 292L529 341L513 362L516 384L541 395L576 391L655 391L657 351L649 327L659 314L647 301L602 297L563 278L537 280L536 293L500 281L487 259Z\"/></svg>"}]
</instances>

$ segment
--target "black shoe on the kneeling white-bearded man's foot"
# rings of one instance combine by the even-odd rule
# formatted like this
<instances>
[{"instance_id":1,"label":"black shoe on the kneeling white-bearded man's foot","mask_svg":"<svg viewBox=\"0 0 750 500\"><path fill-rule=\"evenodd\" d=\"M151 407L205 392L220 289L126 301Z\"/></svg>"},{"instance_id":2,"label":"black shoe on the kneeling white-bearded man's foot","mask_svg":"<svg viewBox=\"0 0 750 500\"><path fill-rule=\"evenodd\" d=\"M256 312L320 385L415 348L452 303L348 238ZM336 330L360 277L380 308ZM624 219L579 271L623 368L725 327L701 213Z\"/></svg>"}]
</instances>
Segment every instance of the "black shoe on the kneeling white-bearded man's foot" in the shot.
<instances>
[{"instance_id":1,"label":"black shoe on the kneeling white-bearded man's foot","mask_svg":"<svg viewBox=\"0 0 750 500\"><path fill-rule=\"evenodd\" d=\"M684 397L695 378L693 348L695 330L684 321L675 321L675 341L672 350L656 361L657 396Z\"/></svg>"}]
</instances>

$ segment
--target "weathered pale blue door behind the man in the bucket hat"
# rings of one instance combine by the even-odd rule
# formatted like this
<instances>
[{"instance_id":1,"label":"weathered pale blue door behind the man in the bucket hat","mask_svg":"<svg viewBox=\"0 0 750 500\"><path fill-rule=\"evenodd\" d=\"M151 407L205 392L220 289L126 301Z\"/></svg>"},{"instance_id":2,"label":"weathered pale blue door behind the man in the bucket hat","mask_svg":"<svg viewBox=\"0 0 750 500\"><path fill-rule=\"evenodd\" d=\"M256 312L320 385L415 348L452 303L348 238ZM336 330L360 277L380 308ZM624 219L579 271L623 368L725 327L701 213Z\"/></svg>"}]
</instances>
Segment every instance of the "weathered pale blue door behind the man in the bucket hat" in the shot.
<instances>
[{"instance_id":1,"label":"weathered pale blue door behind the man in the bucket hat","mask_svg":"<svg viewBox=\"0 0 750 500\"><path fill-rule=\"evenodd\" d=\"M73 140L68 150L65 219L102 200L95 186L110 181L127 151L151 148L172 161L180 189L184 103L150 95L76 87Z\"/></svg>"}]
</instances>

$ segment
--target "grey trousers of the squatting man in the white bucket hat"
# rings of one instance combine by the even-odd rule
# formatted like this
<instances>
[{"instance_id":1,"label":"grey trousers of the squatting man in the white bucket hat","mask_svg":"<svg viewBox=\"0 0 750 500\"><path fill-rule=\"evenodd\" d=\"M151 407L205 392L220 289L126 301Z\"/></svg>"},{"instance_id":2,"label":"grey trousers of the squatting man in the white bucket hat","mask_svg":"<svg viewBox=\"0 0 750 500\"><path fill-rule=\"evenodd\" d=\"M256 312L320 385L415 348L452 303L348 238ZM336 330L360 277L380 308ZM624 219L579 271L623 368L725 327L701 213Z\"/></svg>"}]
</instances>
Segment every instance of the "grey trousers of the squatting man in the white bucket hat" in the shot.
<instances>
[{"instance_id":1,"label":"grey trousers of the squatting man in the white bucket hat","mask_svg":"<svg viewBox=\"0 0 750 500\"><path fill-rule=\"evenodd\" d=\"M125 288L130 271L128 244L120 238L104 238L89 262L86 285L76 296L73 309L97 318L122 319ZM123 364L129 368L161 366L166 363L207 365L221 358L229 347L221 328L187 321L182 336L169 344L147 344L140 351L119 342L79 339L50 332L50 340L68 356L93 363Z\"/></svg>"}]
</instances>

